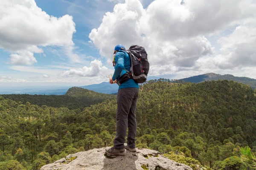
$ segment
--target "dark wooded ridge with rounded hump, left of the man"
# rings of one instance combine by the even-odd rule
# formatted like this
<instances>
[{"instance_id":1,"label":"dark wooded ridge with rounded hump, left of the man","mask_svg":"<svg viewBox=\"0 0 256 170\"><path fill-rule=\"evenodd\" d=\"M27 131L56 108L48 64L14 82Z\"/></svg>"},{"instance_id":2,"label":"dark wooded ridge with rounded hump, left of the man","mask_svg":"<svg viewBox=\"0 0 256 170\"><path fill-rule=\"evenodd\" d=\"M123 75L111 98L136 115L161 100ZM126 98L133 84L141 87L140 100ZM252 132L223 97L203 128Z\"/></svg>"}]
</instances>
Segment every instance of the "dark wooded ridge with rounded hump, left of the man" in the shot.
<instances>
[{"instance_id":1,"label":"dark wooded ridge with rounded hump, left of the man","mask_svg":"<svg viewBox=\"0 0 256 170\"><path fill-rule=\"evenodd\" d=\"M24 105L29 102L32 105L51 106L51 107L67 107L69 109L78 109L103 102L108 99L114 99L115 95L101 94L89 91L84 88L70 88L65 95L29 95L29 94L4 94L0 95L5 99L11 99L21 102Z\"/></svg>"}]
</instances>

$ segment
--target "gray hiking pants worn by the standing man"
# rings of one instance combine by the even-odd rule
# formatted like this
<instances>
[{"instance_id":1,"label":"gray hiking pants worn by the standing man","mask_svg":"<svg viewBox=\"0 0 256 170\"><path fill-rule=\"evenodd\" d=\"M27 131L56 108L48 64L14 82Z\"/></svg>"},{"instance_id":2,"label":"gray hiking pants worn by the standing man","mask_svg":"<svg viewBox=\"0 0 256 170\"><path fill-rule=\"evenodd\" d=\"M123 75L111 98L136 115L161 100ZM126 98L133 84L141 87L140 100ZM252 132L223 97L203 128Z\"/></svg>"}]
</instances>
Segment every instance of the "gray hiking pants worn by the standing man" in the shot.
<instances>
[{"instance_id":1,"label":"gray hiking pants worn by the standing man","mask_svg":"<svg viewBox=\"0 0 256 170\"><path fill-rule=\"evenodd\" d=\"M128 127L127 144L135 148L137 130L136 105L138 99L138 88L122 88L118 90L117 112L116 112L116 137L114 139L115 149L124 148L126 130Z\"/></svg>"}]
</instances>

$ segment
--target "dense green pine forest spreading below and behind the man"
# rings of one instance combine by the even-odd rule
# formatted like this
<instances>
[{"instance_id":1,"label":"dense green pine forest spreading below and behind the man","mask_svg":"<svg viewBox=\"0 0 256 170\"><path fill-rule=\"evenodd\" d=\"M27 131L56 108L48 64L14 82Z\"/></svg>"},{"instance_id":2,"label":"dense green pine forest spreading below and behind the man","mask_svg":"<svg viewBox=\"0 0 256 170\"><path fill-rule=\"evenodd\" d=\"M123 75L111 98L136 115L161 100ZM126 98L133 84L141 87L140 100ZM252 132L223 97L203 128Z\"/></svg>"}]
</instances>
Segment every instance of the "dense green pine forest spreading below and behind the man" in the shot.
<instances>
[{"instance_id":1,"label":"dense green pine forest spreading below and behind the man","mask_svg":"<svg viewBox=\"0 0 256 170\"><path fill-rule=\"evenodd\" d=\"M82 96L79 90L71 94ZM158 79L140 85L139 96L137 147L193 170L255 169L256 96L249 85ZM113 145L116 99L72 108L28 98L0 96L0 170L39 170L68 154Z\"/></svg>"}]
</instances>

